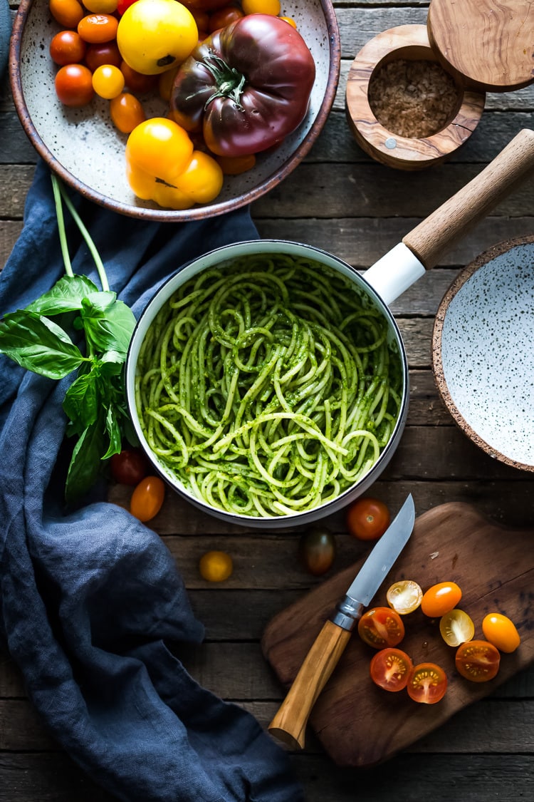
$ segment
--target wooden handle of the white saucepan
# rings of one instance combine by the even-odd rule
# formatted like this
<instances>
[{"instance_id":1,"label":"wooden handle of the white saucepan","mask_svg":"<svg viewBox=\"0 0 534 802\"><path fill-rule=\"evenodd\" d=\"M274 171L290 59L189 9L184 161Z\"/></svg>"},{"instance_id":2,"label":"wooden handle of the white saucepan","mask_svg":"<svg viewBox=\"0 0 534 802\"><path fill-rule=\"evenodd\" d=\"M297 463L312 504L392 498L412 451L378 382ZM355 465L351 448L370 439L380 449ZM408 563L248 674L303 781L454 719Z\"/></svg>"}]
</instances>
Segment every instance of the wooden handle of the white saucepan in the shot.
<instances>
[{"instance_id":1,"label":"wooden handle of the white saucepan","mask_svg":"<svg viewBox=\"0 0 534 802\"><path fill-rule=\"evenodd\" d=\"M445 201L403 239L430 269L469 229L534 168L534 131L524 128L472 181Z\"/></svg>"}]
</instances>

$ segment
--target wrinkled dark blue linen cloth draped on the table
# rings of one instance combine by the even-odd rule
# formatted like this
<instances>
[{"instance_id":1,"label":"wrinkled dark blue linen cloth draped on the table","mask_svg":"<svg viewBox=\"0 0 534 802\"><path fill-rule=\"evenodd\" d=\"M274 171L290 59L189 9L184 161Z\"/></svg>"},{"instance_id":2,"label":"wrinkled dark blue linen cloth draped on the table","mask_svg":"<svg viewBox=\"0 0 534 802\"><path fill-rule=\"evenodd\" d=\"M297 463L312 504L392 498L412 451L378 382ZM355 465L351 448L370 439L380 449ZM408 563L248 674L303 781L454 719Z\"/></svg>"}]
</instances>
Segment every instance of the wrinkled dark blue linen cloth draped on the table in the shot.
<instances>
[{"instance_id":1,"label":"wrinkled dark blue linen cloth draped on the table","mask_svg":"<svg viewBox=\"0 0 534 802\"><path fill-rule=\"evenodd\" d=\"M158 224L73 201L110 287L135 314L183 263L258 236L247 209ZM70 222L67 236L74 272L98 284ZM50 174L39 163L0 274L2 314L62 272ZM251 715L199 687L167 647L200 642L203 626L163 541L103 500L62 512L67 386L0 356L0 635L30 699L58 743L118 799L301 800L284 751Z\"/></svg>"}]
</instances>

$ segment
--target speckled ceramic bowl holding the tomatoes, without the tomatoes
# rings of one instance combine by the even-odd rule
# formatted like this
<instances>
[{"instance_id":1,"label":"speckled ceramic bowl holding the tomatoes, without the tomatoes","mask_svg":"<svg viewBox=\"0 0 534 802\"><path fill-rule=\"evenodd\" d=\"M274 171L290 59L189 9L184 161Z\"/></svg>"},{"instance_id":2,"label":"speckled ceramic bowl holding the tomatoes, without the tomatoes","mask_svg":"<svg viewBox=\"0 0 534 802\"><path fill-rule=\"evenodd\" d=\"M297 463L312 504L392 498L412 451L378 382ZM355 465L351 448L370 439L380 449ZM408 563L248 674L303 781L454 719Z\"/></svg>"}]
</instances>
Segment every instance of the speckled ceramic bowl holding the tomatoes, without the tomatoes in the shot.
<instances>
[{"instance_id":1,"label":"speckled ceramic bowl holding the tomatoes, without the tomatoes","mask_svg":"<svg viewBox=\"0 0 534 802\"><path fill-rule=\"evenodd\" d=\"M66 184L115 212L159 221L198 220L255 201L279 184L303 160L319 135L339 80L339 31L330 0L290 0L284 10L297 23L315 59L310 107L299 128L283 144L258 157L255 168L229 176L211 204L171 211L140 201L126 181L126 136L110 121L109 103L94 99L82 109L62 106L54 91L56 67L50 39L60 26L48 0L21 0L10 49L10 79L15 106L34 148ZM143 98L147 116L165 115L160 99Z\"/></svg>"}]
</instances>

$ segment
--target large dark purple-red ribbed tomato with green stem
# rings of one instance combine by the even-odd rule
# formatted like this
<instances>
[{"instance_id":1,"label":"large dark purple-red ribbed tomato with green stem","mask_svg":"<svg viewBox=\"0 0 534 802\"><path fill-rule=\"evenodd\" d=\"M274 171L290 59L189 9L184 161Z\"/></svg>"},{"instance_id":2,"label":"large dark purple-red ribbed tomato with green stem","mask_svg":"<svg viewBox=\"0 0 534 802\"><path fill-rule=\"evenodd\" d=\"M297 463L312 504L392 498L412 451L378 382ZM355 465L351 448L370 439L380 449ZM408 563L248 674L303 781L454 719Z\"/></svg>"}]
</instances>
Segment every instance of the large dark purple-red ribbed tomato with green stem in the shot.
<instances>
[{"instance_id":1,"label":"large dark purple-red ribbed tomato with green stem","mask_svg":"<svg viewBox=\"0 0 534 802\"><path fill-rule=\"evenodd\" d=\"M302 122L314 80L298 31L270 14L248 14L204 39L179 67L172 117L202 131L217 156L259 153Z\"/></svg>"}]
</instances>

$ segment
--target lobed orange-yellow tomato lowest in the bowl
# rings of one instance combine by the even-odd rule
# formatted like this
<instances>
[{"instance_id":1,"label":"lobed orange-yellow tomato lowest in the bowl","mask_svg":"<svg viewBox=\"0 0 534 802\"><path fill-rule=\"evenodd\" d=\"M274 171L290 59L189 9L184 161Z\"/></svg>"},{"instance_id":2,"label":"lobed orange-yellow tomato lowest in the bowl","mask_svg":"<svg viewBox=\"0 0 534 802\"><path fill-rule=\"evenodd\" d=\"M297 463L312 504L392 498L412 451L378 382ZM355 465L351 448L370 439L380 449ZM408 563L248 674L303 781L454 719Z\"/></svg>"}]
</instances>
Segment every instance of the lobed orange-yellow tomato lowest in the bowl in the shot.
<instances>
[{"instance_id":1,"label":"lobed orange-yellow tomato lowest in the bowl","mask_svg":"<svg viewBox=\"0 0 534 802\"><path fill-rule=\"evenodd\" d=\"M126 177L139 198L169 209L209 203L223 187L219 164L195 151L187 132L167 117L146 119L130 133Z\"/></svg>"}]
</instances>

